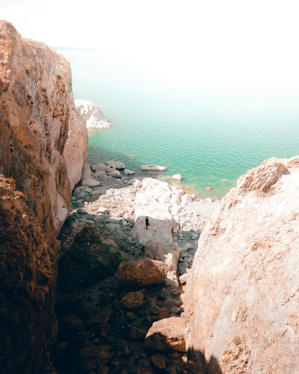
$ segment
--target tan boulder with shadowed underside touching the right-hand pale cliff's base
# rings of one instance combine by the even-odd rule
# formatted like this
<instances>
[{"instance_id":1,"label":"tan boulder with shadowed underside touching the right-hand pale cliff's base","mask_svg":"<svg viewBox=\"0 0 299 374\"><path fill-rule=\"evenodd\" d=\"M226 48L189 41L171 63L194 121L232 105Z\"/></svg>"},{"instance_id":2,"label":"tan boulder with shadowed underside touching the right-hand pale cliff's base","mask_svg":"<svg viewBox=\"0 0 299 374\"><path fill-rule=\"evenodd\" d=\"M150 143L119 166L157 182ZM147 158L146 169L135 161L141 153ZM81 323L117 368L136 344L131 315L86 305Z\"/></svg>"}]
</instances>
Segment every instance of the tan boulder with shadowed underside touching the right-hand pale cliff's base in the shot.
<instances>
[{"instance_id":1,"label":"tan boulder with shadowed underside touching the right-hand pale cliff's base","mask_svg":"<svg viewBox=\"0 0 299 374\"><path fill-rule=\"evenodd\" d=\"M185 320L179 317L164 318L154 322L145 337L147 346L163 352L186 352Z\"/></svg>"}]
</instances>

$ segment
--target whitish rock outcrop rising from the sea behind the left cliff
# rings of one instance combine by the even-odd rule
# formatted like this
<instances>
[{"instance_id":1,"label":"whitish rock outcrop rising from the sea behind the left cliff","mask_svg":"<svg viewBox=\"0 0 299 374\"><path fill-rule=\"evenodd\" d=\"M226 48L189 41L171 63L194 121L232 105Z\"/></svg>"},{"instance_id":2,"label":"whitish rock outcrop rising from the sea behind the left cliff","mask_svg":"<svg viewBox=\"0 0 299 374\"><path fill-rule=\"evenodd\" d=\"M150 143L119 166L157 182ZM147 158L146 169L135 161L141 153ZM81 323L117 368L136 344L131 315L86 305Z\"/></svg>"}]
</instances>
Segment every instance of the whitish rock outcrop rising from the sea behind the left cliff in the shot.
<instances>
[{"instance_id":1,"label":"whitish rock outcrop rising from the sea behind the left cliff","mask_svg":"<svg viewBox=\"0 0 299 374\"><path fill-rule=\"evenodd\" d=\"M92 129L109 128L110 123L105 120L101 109L91 101L78 99L75 100L78 112L83 117L86 127Z\"/></svg>"}]
</instances>

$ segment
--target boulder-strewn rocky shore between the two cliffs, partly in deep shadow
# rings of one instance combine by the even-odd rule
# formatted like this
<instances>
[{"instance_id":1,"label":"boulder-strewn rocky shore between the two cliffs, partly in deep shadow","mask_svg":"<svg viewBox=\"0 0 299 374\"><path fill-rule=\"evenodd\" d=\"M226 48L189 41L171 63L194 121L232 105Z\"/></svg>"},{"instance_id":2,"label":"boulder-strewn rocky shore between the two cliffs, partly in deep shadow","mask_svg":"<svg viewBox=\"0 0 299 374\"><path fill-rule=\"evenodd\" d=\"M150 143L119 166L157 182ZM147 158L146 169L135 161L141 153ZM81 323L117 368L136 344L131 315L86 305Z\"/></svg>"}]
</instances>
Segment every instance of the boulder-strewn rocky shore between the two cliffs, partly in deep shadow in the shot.
<instances>
[{"instance_id":1,"label":"boulder-strewn rocky shore between the two cliffs, partly in deep shadow","mask_svg":"<svg viewBox=\"0 0 299 374\"><path fill-rule=\"evenodd\" d=\"M59 374L187 373L185 278L219 202L106 164L84 165L59 236L52 361Z\"/></svg>"}]
</instances>

